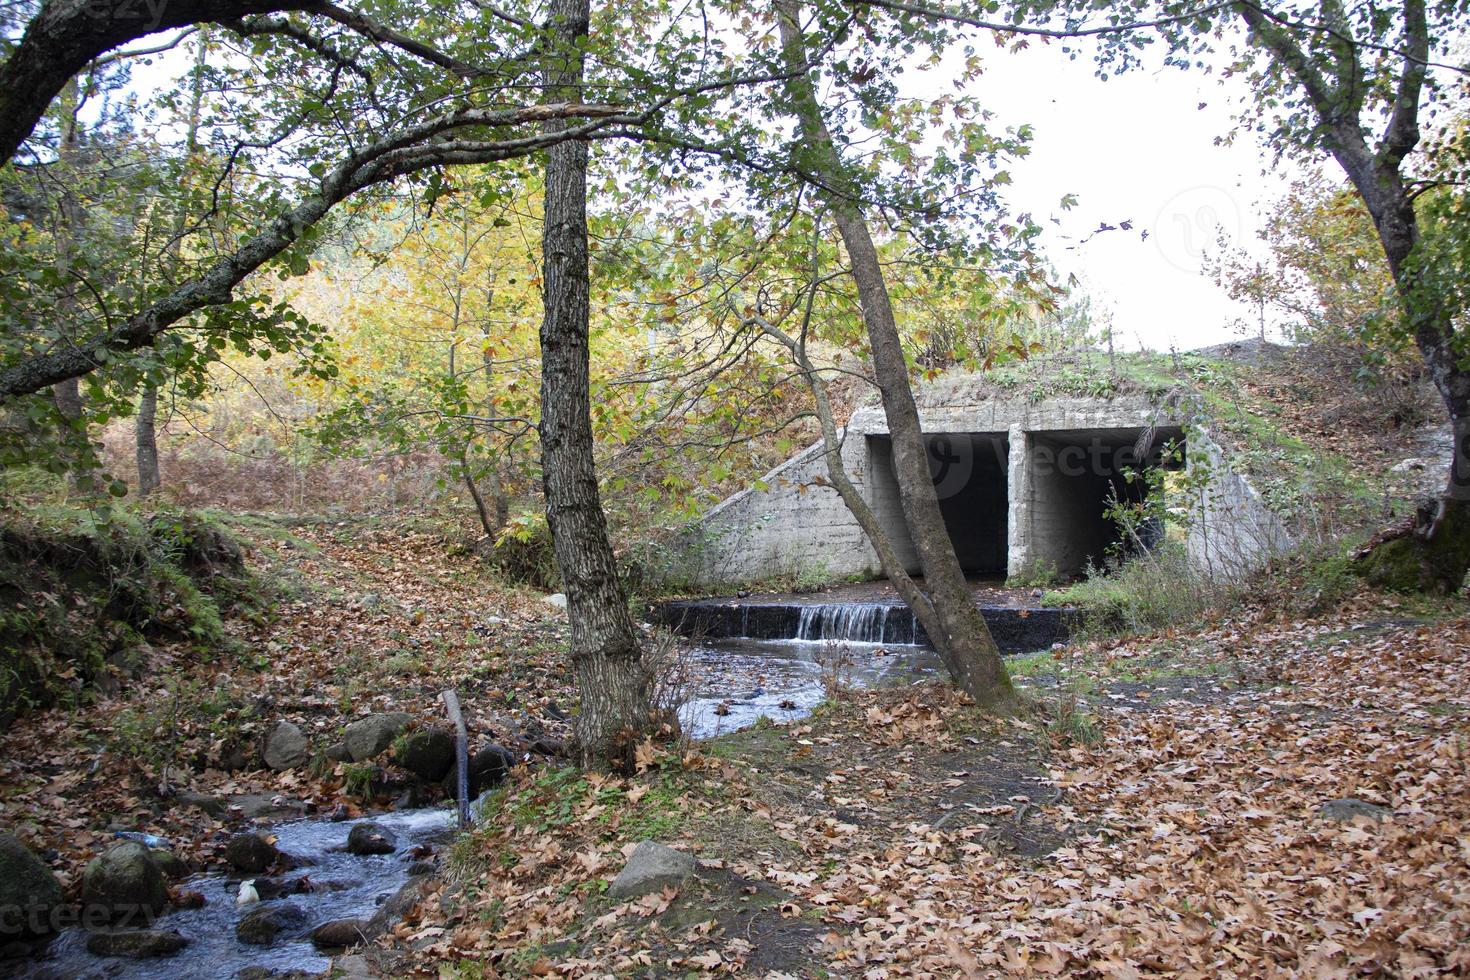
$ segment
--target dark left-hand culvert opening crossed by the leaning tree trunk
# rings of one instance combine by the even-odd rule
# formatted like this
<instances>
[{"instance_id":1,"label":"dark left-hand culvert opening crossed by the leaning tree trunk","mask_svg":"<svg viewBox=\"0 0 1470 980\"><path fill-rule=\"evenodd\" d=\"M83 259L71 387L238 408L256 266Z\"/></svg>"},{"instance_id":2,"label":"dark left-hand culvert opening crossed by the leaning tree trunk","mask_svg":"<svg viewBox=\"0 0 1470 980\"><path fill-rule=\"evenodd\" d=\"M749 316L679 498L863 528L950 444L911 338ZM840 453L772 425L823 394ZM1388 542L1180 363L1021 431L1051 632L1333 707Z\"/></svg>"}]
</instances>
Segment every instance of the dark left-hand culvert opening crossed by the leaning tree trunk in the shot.
<instances>
[{"instance_id":1,"label":"dark left-hand culvert opening crossed by the leaning tree trunk","mask_svg":"<svg viewBox=\"0 0 1470 980\"><path fill-rule=\"evenodd\" d=\"M925 436L929 476L939 497L945 530L966 574L1004 576L1008 550L1008 454L1004 432L932 432ZM908 572L919 563L904 525L894 476L894 444L867 436L870 505Z\"/></svg>"}]
</instances>

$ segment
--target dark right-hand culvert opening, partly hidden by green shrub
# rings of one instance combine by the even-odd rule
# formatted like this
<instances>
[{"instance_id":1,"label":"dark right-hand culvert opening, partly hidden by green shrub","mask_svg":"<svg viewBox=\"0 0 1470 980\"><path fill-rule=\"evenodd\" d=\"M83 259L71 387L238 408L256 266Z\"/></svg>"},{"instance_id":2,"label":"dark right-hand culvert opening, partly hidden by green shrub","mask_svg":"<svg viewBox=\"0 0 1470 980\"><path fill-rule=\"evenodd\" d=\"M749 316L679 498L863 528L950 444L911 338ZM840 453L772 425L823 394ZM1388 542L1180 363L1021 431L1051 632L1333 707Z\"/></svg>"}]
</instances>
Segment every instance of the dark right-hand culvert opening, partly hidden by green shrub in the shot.
<instances>
[{"instance_id":1,"label":"dark right-hand culvert opening, partly hidden by green shrub","mask_svg":"<svg viewBox=\"0 0 1470 980\"><path fill-rule=\"evenodd\" d=\"M1164 541L1157 522L1139 526L1135 541L1110 511L1117 501L1147 501L1150 470L1183 466L1182 429L1032 432L1026 441L1032 564L1075 577L1113 555Z\"/></svg>"}]
</instances>

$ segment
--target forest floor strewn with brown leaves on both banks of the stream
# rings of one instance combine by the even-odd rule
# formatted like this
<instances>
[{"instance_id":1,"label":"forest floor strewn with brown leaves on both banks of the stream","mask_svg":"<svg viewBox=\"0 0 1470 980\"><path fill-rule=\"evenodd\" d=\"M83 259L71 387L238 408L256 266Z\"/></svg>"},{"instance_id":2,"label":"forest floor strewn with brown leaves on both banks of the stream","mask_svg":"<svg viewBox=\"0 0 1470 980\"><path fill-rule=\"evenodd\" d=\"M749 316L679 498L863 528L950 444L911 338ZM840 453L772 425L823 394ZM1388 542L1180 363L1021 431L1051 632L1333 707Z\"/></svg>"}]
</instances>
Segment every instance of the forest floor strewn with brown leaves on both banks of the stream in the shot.
<instances>
[{"instance_id":1,"label":"forest floor strewn with brown leaves on both banks of the stream","mask_svg":"<svg viewBox=\"0 0 1470 980\"><path fill-rule=\"evenodd\" d=\"M291 718L441 714L554 748L560 611L432 530L247 527L287 598L244 654L0 736L0 823L75 883L126 827L216 860L229 811L350 799L343 767L231 770ZM1013 661L1016 717L941 685L835 688L810 718L648 746L628 779L517 768L376 962L388 976L1198 977L1470 971L1470 619L1360 594ZM547 752L550 755L550 749ZM385 790L387 792L387 790ZM263 802L262 802L263 801ZM1358 801L1358 802L1342 802ZM260 805L256 805L260 804ZM606 895L642 839L697 877Z\"/></svg>"}]
</instances>

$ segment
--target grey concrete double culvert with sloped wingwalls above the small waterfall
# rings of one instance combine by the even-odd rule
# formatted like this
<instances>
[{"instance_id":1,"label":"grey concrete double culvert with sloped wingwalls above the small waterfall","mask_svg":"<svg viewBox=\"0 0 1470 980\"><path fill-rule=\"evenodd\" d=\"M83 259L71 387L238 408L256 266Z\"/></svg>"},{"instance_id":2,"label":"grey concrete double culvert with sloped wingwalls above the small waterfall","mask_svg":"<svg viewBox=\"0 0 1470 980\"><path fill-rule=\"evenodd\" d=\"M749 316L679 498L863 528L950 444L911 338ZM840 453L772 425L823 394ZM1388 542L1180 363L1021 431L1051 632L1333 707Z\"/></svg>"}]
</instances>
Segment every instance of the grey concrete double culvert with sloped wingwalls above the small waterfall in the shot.
<instances>
[{"instance_id":1,"label":"grey concrete double culvert with sloped wingwalls above the small waterfall","mask_svg":"<svg viewBox=\"0 0 1470 980\"><path fill-rule=\"evenodd\" d=\"M1291 544L1282 520L1230 469L1189 398L995 398L963 383L919 392L931 475L964 570L975 576L1082 573L1119 539L1108 501L1135 495L1129 472L1182 467L1192 479L1192 566L1239 577ZM881 407L854 413L844 466L898 554L917 570L892 473ZM828 483L820 442L717 504L681 542L691 582L757 583L779 576L836 580L882 573L878 555Z\"/></svg>"}]
</instances>

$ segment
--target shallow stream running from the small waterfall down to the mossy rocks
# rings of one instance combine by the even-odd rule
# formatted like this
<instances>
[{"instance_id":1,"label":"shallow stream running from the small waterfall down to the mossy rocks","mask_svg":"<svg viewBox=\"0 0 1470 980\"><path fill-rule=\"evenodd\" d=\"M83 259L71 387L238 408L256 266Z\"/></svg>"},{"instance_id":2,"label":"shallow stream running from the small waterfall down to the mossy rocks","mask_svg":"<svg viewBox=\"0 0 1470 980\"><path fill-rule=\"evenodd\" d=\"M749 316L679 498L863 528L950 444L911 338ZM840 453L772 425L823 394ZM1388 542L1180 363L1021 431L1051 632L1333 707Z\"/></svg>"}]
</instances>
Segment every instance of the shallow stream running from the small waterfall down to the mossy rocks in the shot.
<instances>
[{"instance_id":1,"label":"shallow stream running from the small waterfall down to the mossy rocks","mask_svg":"<svg viewBox=\"0 0 1470 980\"><path fill-rule=\"evenodd\" d=\"M913 683L942 670L938 654L911 642L873 642L892 632L891 616L882 610L844 610L832 617L806 613L791 639L729 638L689 642L682 651L685 689L681 721L695 739L714 738L756 724L761 717L792 721L811 713L833 685L873 688ZM394 854L362 857L344 849L356 823L372 820L397 835ZM331 956L318 951L307 933L326 921L366 918L409 880L409 852L417 845L438 845L453 835L454 813L448 807L384 813L362 820L332 823L323 818L295 820L272 829L276 848L301 865L279 877L306 876L312 890L288 901L307 914L306 924L284 933L269 946L254 946L235 937L235 926L254 907L237 907L243 876L200 874L182 883L200 892L206 904L175 911L156 929L176 930L190 945L157 959L96 956L87 951L87 933L63 932L44 959L19 967L16 976L57 980L198 980L232 979L247 967L278 973L325 973Z\"/></svg>"}]
</instances>

